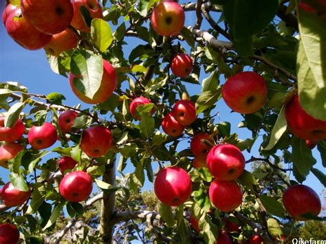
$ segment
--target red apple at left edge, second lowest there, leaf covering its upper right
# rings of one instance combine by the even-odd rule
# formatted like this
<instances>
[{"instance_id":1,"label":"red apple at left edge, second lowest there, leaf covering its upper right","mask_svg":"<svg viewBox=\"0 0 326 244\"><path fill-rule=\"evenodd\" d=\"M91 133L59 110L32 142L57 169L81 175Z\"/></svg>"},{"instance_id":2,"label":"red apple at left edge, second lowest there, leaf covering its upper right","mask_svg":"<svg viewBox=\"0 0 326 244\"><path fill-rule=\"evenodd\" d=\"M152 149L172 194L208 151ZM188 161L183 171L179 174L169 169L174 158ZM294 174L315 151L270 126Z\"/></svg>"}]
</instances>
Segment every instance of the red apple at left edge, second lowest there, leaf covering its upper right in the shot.
<instances>
[{"instance_id":1,"label":"red apple at left edge, second lowest there, leaf covering its upper right","mask_svg":"<svg viewBox=\"0 0 326 244\"><path fill-rule=\"evenodd\" d=\"M30 198L30 190L23 192L14 188L11 182L3 186L1 192L2 203L7 207L19 206Z\"/></svg>"}]
</instances>

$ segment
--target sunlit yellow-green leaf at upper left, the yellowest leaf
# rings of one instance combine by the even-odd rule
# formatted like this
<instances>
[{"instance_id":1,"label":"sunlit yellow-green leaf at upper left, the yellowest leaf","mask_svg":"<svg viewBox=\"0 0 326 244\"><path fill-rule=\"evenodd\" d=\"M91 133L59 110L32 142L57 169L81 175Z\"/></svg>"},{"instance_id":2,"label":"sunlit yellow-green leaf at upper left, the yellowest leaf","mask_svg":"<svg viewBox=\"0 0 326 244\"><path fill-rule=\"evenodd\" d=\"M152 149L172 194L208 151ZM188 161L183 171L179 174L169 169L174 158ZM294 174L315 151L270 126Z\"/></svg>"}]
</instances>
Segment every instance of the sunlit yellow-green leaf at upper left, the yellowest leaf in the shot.
<instances>
[{"instance_id":1,"label":"sunlit yellow-green leaf at upper left, the yellowest leaf","mask_svg":"<svg viewBox=\"0 0 326 244\"><path fill-rule=\"evenodd\" d=\"M109 23L102 19L91 21L91 38L100 52L105 52L113 41L113 35Z\"/></svg>"}]
</instances>

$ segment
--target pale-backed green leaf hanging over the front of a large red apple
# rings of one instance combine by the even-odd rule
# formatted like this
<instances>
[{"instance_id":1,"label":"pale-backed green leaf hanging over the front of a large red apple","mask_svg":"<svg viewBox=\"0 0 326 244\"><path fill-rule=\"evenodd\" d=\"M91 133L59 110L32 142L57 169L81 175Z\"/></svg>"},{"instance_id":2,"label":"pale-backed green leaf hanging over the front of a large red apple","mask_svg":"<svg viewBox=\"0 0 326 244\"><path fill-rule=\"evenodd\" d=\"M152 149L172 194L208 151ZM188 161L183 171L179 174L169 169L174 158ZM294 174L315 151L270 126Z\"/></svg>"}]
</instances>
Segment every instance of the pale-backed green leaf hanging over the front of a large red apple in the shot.
<instances>
[{"instance_id":1,"label":"pale-backed green leaf hanging over the front of a large red apple","mask_svg":"<svg viewBox=\"0 0 326 244\"><path fill-rule=\"evenodd\" d=\"M74 86L87 98L94 98L103 74L102 56L88 50L75 50L70 63Z\"/></svg>"}]
</instances>

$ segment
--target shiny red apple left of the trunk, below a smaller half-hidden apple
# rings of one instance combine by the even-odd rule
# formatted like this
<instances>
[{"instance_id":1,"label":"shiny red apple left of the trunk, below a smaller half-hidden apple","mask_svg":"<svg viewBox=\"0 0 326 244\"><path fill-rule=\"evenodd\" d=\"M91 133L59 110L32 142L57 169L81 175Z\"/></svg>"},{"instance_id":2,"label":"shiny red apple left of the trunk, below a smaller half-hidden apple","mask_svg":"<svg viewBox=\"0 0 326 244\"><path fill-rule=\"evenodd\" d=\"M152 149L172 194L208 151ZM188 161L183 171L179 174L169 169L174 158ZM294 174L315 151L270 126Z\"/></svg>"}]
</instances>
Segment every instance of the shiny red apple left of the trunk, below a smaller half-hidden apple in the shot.
<instances>
[{"instance_id":1,"label":"shiny red apple left of the trunk, below a smaller half-hidden apple","mask_svg":"<svg viewBox=\"0 0 326 244\"><path fill-rule=\"evenodd\" d=\"M59 185L61 195L72 203L87 199L91 195L92 189L91 177L84 171L68 173L63 177Z\"/></svg>"}]
</instances>

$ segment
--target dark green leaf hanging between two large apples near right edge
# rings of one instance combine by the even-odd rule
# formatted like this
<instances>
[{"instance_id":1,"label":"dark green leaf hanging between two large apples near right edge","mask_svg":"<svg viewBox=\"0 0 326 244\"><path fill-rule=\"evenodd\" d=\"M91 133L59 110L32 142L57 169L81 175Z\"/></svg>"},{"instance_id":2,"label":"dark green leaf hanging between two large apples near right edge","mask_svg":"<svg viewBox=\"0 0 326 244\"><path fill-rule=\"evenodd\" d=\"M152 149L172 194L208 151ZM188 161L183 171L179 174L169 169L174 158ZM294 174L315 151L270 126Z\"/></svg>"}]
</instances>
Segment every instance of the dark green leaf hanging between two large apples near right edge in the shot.
<instances>
[{"instance_id":1,"label":"dark green leaf hanging between two large apples near right edge","mask_svg":"<svg viewBox=\"0 0 326 244\"><path fill-rule=\"evenodd\" d=\"M316 164L316 159L312 156L311 149L305 146L305 140L292 137L291 161L296 166L298 173L303 176L309 175L312 166Z\"/></svg>"}]
</instances>

